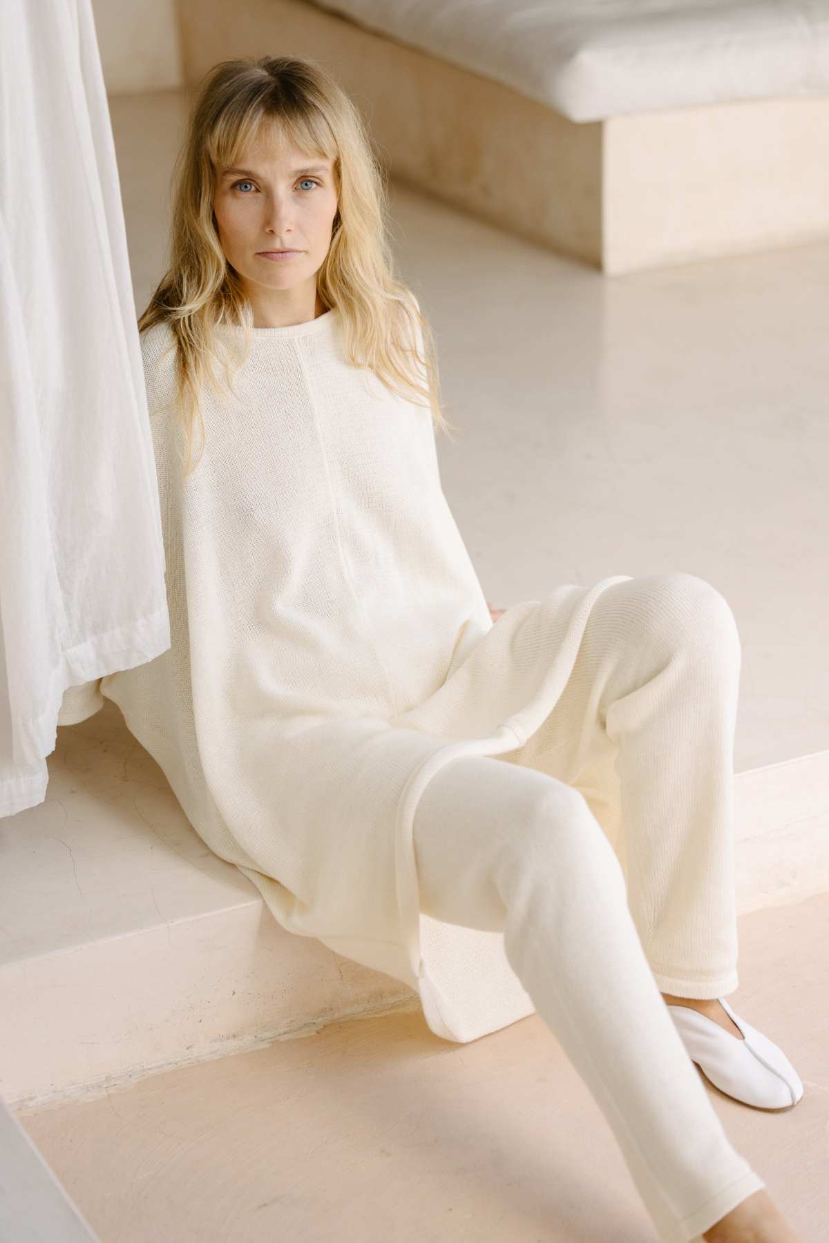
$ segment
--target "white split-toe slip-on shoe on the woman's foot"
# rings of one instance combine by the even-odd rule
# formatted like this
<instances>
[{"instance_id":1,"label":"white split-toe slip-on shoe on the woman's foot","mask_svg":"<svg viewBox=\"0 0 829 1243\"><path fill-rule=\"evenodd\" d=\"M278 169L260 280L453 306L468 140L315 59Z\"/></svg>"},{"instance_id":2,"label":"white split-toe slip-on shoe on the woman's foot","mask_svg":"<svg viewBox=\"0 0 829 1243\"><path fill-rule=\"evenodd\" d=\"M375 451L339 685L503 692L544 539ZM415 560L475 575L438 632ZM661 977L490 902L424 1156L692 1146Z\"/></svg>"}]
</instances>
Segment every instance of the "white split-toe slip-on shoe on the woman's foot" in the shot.
<instances>
[{"instance_id":1,"label":"white split-toe slip-on shoe on the woman's foot","mask_svg":"<svg viewBox=\"0 0 829 1243\"><path fill-rule=\"evenodd\" d=\"M797 1070L767 1035L717 1001L742 1032L743 1039L690 1006L669 1006L682 1044L715 1088L754 1109L790 1109L803 1096Z\"/></svg>"}]
</instances>

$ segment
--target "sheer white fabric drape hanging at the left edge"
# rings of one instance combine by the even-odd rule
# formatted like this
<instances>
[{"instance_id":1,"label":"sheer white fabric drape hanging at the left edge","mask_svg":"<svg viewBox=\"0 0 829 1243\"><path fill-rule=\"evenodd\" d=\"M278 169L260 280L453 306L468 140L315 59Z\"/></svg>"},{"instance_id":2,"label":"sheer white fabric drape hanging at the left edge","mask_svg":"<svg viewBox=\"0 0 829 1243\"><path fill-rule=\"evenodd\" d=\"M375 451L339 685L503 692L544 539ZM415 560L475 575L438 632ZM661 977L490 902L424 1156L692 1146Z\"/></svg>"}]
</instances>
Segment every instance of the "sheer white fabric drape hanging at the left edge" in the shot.
<instances>
[{"instance_id":1,"label":"sheer white fabric drape hanging at the left edge","mask_svg":"<svg viewBox=\"0 0 829 1243\"><path fill-rule=\"evenodd\" d=\"M170 645L158 481L91 0L4 0L0 815L67 687Z\"/></svg>"}]
</instances>

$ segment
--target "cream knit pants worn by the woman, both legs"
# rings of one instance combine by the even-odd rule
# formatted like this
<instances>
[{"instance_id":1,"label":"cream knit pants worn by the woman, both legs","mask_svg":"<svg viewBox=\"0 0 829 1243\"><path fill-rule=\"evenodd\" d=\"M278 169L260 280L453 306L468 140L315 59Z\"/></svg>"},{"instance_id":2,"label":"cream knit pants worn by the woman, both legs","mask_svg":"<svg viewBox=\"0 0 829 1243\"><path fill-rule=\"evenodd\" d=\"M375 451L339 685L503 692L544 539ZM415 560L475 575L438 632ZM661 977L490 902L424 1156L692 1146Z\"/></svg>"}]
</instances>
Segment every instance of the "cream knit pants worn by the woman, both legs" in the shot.
<instances>
[{"instance_id":1,"label":"cream knit pants worn by the woman, both legs","mask_svg":"<svg viewBox=\"0 0 829 1243\"><path fill-rule=\"evenodd\" d=\"M503 931L671 1243L766 1186L726 1137L660 997L737 987L740 666L733 614L705 579L616 583L537 735L507 762L449 762L414 823L421 909Z\"/></svg>"}]
</instances>

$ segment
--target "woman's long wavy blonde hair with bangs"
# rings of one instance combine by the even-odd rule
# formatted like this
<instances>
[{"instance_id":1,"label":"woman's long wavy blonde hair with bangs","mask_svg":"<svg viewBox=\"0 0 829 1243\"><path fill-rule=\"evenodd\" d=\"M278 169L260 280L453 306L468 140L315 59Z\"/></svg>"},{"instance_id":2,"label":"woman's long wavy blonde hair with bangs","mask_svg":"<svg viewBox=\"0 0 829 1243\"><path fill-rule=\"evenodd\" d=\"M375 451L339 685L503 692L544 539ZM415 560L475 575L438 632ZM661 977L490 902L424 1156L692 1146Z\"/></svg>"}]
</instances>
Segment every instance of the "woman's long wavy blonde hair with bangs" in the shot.
<instances>
[{"instance_id":1,"label":"woman's long wavy blonde hair with bangs","mask_svg":"<svg viewBox=\"0 0 829 1243\"><path fill-rule=\"evenodd\" d=\"M204 451L201 385L206 380L219 390L211 359L224 364L232 388L227 364L237 368L245 360L254 327L252 307L219 239L213 211L218 169L239 163L263 129L292 139L308 157L333 163L337 215L317 272L317 292L326 310L339 311L348 362L370 368L399 397L428 405L435 426L451 439L454 425L440 408L431 327L415 296L394 275L385 184L359 111L313 61L242 57L209 70L190 104L173 170L168 270L138 319L139 332L160 322L173 332L176 413L186 435L188 464L199 414L201 449L193 466L185 466L185 475L195 470ZM214 332L216 323L245 329L236 348Z\"/></svg>"}]
</instances>

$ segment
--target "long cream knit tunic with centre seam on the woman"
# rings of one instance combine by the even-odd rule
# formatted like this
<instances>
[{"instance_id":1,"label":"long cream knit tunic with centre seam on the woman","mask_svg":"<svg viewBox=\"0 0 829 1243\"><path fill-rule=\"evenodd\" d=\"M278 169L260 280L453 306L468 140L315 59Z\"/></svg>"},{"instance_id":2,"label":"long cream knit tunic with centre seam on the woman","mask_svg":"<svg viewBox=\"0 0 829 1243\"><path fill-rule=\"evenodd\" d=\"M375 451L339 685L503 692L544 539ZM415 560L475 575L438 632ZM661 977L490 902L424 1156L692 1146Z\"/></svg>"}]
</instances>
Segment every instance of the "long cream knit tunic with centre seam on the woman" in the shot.
<instances>
[{"instance_id":1,"label":"long cream knit tunic with centre seam on the woman","mask_svg":"<svg viewBox=\"0 0 829 1243\"><path fill-rule=\"evenodd\" d=\"M346 362L336 308L252 338L235 399L204 390L204 456L181 482L173 337L143 334L172 645L68 690L58 723L101 707L99 687L285 929L416 988L436 1035L472 1040L533 1004L502 933L420 912L418 800L456 756L520 761L593 603L629 576L493 625L430 410Z\"/></svg>"}]
</instances>

